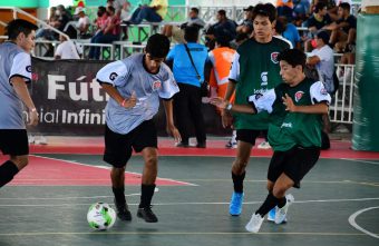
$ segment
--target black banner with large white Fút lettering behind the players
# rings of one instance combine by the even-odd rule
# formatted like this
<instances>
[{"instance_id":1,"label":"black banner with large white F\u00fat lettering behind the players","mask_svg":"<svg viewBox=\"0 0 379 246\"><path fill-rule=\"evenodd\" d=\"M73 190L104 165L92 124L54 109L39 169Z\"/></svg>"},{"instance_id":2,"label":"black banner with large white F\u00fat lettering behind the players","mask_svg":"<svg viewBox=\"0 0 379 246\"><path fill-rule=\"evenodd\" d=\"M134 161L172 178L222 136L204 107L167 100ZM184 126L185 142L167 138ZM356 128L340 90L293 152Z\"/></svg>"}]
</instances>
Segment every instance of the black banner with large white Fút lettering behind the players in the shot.
<instances>
[{"instance_id":1,"label":"black banner with large white F\u00fat lettering behind the players","mask_svg":"<svg viewBox=\"0 0 379 246\"><path fill-rule=\"evenodd\" d=\"M109 61L32 58L31 62L33 78L30 94L40 122L29 131L58 136L103 135L108 96L95 78L97 71ZM207 134L225 136L231 132L222 128L213 106L203 105L203 114ZM154 119L159 136L166 136L162 104Z\"/></svg>"}]
</instances>

